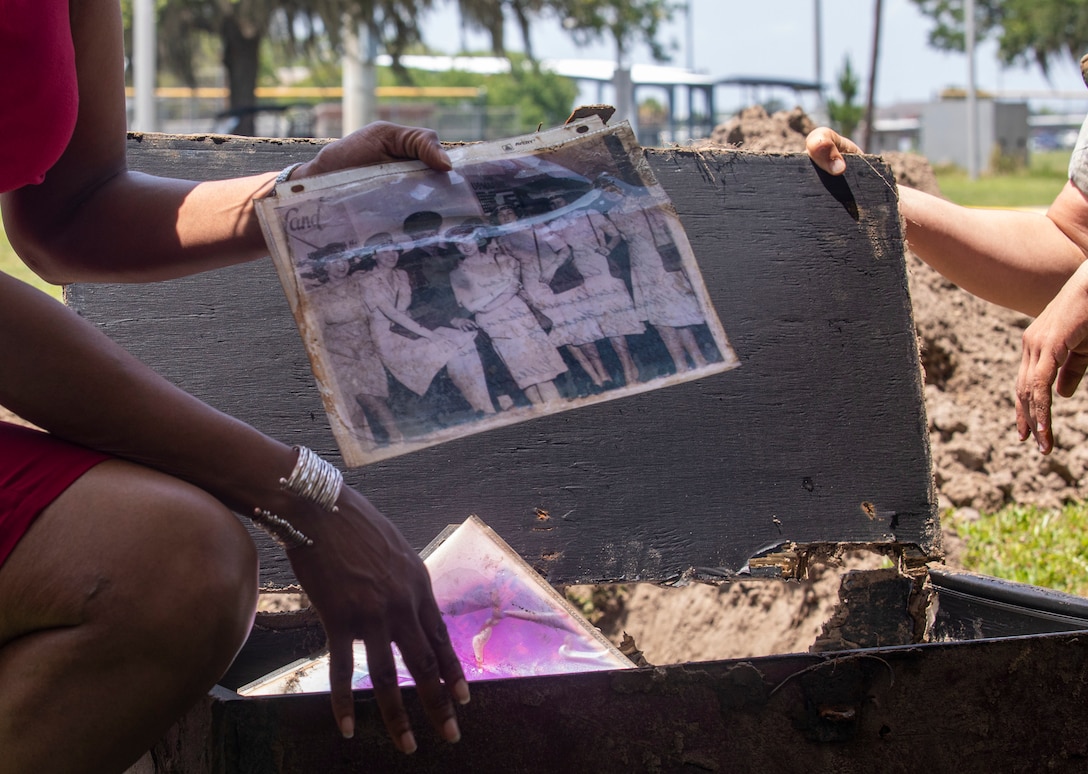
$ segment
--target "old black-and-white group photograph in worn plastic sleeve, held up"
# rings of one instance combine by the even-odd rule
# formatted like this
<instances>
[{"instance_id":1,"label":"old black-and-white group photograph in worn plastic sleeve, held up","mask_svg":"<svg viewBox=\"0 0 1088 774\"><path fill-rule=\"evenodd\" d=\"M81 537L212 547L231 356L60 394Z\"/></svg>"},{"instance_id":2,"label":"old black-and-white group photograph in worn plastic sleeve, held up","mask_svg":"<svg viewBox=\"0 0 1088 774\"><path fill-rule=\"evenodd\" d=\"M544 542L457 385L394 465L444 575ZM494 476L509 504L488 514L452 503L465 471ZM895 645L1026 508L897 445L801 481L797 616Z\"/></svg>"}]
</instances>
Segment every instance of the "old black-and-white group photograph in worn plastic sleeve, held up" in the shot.
<instances>
[{"instance_id":1,"label":"old black-and-white group photograph in worn plastic sleeve, held up","mask_svg":"<svg viewBox=\"0 0 1088 774\"><path fill-rule=\"evenodd\" d=\"M346 465L738 365L628 124L448 152L257 202Z\"/></svg>"}]
</instances>

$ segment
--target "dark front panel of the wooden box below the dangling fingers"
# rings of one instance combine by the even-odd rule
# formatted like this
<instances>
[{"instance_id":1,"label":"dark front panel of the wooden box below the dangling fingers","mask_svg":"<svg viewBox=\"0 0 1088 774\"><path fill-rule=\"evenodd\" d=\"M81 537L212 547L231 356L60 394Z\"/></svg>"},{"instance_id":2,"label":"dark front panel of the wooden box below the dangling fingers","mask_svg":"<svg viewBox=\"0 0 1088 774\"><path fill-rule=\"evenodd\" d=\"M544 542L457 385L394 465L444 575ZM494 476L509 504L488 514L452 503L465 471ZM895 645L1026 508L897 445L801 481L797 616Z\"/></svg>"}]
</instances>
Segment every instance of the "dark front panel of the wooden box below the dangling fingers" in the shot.
<instances>
[{"instance_id":1,"label":"dark front panel of the wooden box below the dangling fingers","mask_svg":"<svg viewBox=\"0 0 1088 774\"><path fill-rule=\"evenodd\" d=\"M1083 772L1085 636L796 654L478 683L462 739L425 730L397 752L372 693L356 737L327 696L209 697L172 732L160 771L304 772ZM182 739L203 745L176 746ZM173 741L172 741L173 740Z\"/></svg>"}]
</instances>

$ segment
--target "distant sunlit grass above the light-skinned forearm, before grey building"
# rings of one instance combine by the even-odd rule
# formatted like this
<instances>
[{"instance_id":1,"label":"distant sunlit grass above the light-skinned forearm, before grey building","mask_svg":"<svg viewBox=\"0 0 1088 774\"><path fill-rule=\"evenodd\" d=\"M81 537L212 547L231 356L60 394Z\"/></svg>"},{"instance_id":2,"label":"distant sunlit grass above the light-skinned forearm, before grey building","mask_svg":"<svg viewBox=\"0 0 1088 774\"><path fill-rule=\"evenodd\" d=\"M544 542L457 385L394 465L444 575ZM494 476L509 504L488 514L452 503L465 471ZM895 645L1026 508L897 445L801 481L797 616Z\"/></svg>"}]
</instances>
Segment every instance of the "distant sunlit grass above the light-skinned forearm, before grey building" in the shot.
<instances>
[{"instance_id":1,"label":"distant sunlit grass above the light-skinned forearm, before grey building","mask_svg":"<svg viewBox=\"0 0 1088 774\"><path fill-rule=\"evenodd\" d=\"M1047 207L1068 180L1070 155L1064 150L1031 153L1026 169L968 180L959 167L934 169L951 201L965 207Z\"/></svg>"}]
</instances>

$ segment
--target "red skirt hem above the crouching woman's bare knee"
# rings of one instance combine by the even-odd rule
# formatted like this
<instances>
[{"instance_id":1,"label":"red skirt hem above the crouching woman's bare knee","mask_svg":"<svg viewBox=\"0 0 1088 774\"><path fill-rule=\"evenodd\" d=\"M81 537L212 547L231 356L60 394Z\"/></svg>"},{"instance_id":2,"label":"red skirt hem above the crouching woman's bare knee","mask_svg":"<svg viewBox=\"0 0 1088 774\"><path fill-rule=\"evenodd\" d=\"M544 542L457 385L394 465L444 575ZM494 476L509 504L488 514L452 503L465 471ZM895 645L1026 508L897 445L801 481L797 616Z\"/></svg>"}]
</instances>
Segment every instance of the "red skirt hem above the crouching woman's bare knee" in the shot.
<instances>
[{"instance_id":1,"label":"red skirt hem above the crouching woman's bare knee","mask_svg":"<svg viewBox=\"0 0 1088 774\"><path fill-rule=\"evenodd\" d=\"M0 566L30 523L109 455L48 433L0 422Z\"/></svg>"}]
</instances>

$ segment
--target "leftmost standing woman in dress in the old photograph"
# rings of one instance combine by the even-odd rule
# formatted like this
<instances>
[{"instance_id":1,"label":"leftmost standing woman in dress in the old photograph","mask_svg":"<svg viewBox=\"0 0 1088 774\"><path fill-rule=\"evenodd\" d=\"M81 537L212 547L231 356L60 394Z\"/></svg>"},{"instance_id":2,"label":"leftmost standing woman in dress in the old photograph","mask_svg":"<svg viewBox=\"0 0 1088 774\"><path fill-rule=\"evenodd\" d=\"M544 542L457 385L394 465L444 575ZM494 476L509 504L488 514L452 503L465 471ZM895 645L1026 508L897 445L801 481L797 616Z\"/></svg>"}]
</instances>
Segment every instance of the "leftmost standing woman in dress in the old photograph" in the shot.
<instances>
[{"instance_id":1,"label":"leftmost standing woman in dress in the old photograph","mask_svg":"<svg viewBox=\"0 0 1088 774\"><path fill-rule=\"evenodd\" d=\"M351 427L369 443L376 443L370 426L373 418L390 443L401 443L404 434L388 404L388 377L370 332L370 316L360 308L358 279L351 274L347 256L325 259L324 279L316 291L324 318L324 344L339 390L354 401L348 417Z\"/></svg>"}]
</instances>

